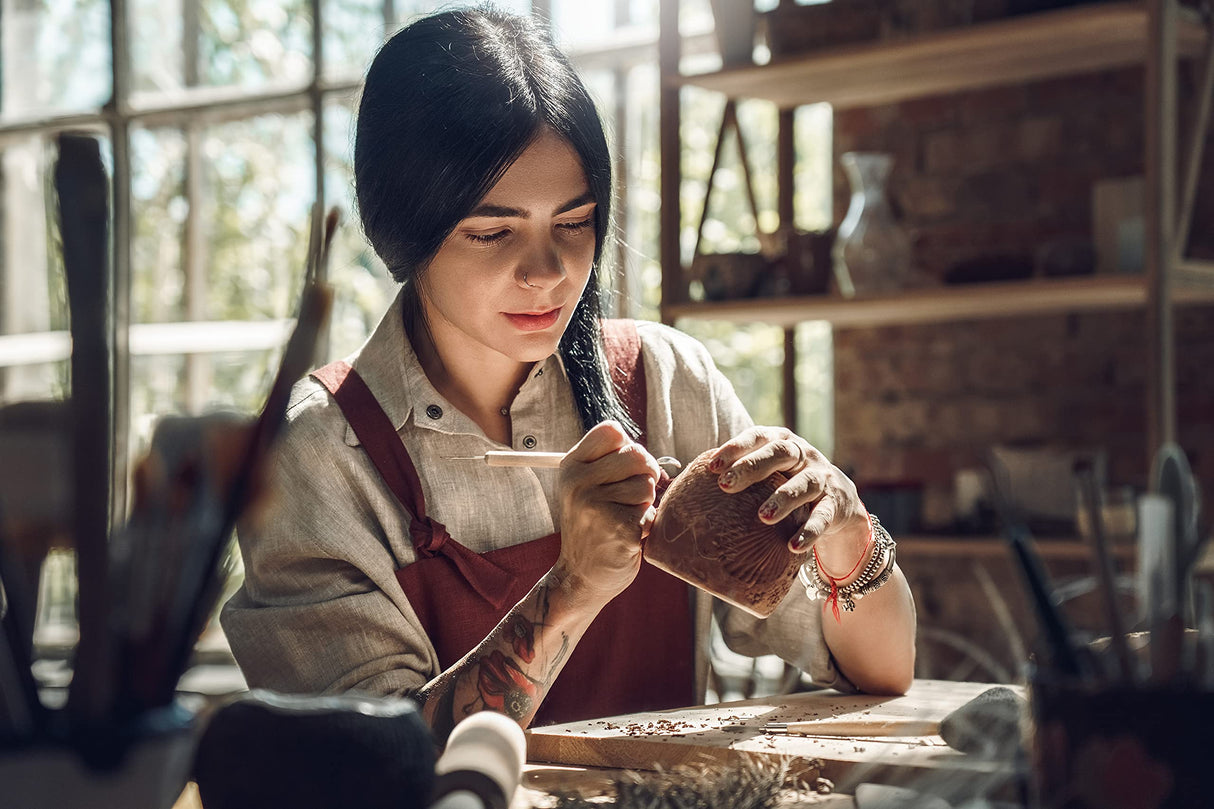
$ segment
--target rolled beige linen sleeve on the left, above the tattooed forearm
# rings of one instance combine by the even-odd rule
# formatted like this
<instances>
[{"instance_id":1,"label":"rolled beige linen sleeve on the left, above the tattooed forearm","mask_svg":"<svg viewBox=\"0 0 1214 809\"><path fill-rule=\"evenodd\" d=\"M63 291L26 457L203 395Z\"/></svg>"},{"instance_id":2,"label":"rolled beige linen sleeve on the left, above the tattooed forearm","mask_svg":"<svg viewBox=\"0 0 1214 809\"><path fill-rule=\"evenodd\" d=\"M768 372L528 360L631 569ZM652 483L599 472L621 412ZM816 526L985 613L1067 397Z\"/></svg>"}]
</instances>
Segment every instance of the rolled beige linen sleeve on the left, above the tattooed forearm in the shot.
<instances>
[{"instance_id":1,"label":"rolled beige linen sleeve on the left, above the tattooed forearm","mask_svg":"<svg viewBox=\"0 0 1214 809\"><path fill-rule=\"evenodd\" d=\"M250 688L399 695L437 671L323 392L276 447L271 502L238 532L244 583L221 621ZM357 454L356 454L357 453Z\"/></svg>"}]
</instances>

